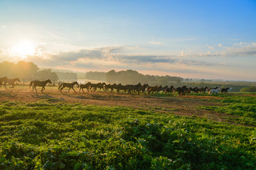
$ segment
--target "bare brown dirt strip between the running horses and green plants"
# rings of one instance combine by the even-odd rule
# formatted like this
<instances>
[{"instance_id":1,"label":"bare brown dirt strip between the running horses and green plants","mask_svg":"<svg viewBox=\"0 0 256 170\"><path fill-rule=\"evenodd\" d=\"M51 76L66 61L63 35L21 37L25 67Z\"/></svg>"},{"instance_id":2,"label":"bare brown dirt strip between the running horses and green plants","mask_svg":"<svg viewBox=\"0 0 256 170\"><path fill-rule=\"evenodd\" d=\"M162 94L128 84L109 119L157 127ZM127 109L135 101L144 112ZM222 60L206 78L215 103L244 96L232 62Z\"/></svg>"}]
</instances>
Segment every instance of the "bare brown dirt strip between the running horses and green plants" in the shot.
<instances>
[{"instance_id":1,"label":"bare brown dirt strip between the running horses and green plants","mask_svg":"<svg viewBox=\"0 0 256 170\"><path fill-rule=\"evenodd\" d=\"M84 105L100 105L100 106L129 106L132 108L151 109L159 112L171 112L176 115L198 116L208 118L218 122L227 122L227 118L237 118L235 115L227 115L217 113L215 111L206 111L198 109L198 106L218 106L219 103L210 101L217 99L214 96L149 96L149 95L130 95L117 94L112 92L97 91L94 93L75 93L70 90L70 93L63 90L60 94L57 89L46 89L44 93L34 92L27 88L4 90L0 89L1 101L21 101L21 102L36 102L48 100L51 102L67 102L67 103L82 103ZM230 122L228 122L230 123Z\"/></svg>"}]
</instances>

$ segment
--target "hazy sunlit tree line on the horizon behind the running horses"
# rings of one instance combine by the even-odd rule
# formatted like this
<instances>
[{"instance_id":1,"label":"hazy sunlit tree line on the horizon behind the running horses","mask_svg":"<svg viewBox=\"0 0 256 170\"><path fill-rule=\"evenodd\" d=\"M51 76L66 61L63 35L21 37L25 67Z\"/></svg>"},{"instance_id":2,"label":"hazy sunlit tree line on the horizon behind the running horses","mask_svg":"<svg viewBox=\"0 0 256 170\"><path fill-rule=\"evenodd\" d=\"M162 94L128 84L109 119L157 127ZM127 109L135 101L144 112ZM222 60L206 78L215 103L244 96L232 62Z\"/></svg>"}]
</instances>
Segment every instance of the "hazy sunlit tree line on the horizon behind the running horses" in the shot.
<instances>
[{"instance_id":1,"label":"hazy sunlit tree line on the horizon behind the running horses","mask_svg":"<svg viewBox=\"0 0 256 170\"><path fill-rule=\"evenodd\" d=\"M9 77L23 79L21 81L31 80L46 80L51 81L76 81L78 74L73 72L53 72L51 69L39 69L33 62L20 61L16 64L14 62L0 62L0 77ZM98 81L106 81L108 83L121 83L121 84L149 84L149 85L170 85L180 84L183 81L181 77L170 76L153 76L140 74L132 69L126 71L115 72L86 72L85 79L92 79Z\"/></svg>"}]
</instances>

